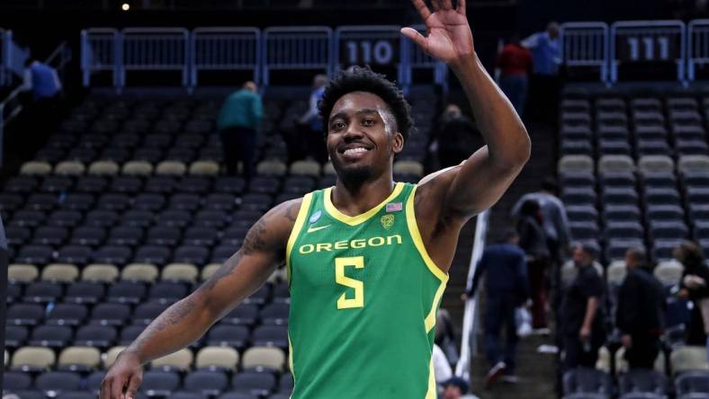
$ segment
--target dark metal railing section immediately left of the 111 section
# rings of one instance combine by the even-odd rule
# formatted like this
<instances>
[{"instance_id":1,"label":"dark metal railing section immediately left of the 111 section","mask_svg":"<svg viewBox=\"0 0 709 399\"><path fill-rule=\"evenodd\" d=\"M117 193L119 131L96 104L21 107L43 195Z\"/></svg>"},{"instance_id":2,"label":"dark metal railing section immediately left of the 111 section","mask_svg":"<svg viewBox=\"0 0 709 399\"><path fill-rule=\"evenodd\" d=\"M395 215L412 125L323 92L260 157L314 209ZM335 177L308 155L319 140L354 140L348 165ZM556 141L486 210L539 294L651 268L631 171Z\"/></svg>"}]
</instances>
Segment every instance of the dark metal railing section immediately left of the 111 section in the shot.
<instances>
[{"instance_id":1,"label":"dark metal railing section immediately left of the 111 section","mask_svg":"<svg viewBox=\"0 0 709 399\"><path fill-rule=\"evenodd\" d=\"M563 23L560 38L562 64L598 67L601 82L608 81L608 25L605 22Z\"/></svg>"}]
</instances>

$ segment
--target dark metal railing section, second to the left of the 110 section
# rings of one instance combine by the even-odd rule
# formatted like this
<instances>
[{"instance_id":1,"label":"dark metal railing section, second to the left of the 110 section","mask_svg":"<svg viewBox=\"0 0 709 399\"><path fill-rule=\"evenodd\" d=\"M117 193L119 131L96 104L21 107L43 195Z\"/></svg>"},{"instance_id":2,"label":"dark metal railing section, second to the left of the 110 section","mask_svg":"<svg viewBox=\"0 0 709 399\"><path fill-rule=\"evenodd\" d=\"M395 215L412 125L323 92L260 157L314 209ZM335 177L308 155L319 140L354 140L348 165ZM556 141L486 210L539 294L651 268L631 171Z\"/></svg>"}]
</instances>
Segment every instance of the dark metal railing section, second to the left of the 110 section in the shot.
<instances>
[{"instance_id":1,"label":"dark metal railing section, second to the left of the 110 section","mask_svg":"<svg viewBox=\"0 0 709 399\"><path fill-rule=\"evenodd\" d=\"M256 28L197 28L190 47L192 86L205 70L252 70L254 81L261 81L261 31Z\"/></svg>"}]
</instances>

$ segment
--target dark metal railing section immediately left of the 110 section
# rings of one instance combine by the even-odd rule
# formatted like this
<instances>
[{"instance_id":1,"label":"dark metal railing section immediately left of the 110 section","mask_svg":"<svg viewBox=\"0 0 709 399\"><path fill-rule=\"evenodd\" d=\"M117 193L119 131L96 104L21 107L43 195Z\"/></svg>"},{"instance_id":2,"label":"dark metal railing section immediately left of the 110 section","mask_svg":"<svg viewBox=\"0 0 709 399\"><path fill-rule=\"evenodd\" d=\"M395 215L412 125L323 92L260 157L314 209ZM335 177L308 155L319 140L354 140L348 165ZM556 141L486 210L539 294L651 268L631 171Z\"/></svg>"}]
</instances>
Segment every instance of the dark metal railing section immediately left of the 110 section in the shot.
<instances>
[{"instance_id":1,"label":"dark metal railing section immediately left of the 110 section","mask_svg":"<svg viewBox=\"0 0 709 399\"><path fill-rule=\"evenodd\" d=\"M272 70L322 70L332 75L332 30L327 26L266 28L263 35L263 84Z\"/></svg>"}]
</instances>

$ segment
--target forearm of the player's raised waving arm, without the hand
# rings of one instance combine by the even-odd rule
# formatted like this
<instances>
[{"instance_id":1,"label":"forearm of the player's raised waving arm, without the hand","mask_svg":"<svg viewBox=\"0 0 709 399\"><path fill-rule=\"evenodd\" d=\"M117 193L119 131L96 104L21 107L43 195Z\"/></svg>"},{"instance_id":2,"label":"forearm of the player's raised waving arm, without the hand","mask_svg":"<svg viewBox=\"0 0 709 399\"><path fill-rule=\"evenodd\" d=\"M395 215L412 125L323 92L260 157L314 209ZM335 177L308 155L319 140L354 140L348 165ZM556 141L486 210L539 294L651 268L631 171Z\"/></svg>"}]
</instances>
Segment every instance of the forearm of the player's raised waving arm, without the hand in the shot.
<instances>
[{"instance_id":1,"label":"forearm of the player's raised waving arm, without the hand","mask_svg":"<svg viewBox=\"0 0 709 399\"><path fill-rule=\"evenodd\" d=\"M474 53L450 64L471 103L493 162L512 167L529 156L529 137L515 108Z\"/></svg>"}]
</instances>

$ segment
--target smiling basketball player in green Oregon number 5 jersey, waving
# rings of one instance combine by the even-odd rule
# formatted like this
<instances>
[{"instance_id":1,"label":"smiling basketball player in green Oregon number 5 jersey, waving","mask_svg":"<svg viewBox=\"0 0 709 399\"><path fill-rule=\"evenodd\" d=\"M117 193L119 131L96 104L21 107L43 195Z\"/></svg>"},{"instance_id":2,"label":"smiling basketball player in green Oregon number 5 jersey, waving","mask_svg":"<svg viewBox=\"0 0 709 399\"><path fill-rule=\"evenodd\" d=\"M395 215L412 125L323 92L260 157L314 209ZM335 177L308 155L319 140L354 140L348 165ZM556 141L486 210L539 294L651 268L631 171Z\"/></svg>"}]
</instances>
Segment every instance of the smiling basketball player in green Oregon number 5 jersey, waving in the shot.
<instances>
[{"instance_id":1,"label":"smiling basketball player in green Oregon number 5 jersey, waving","mask_svg":"<svg viewBox=\"0 0 709 399\"><path fill-rule=\"evenodd\" d=\"M427 182L395 183L411 128L396 86L343 73L319 106L335 187L270 211L201 288L170 306L121 352L101 397L135 397L142 365L199 339L285 262L291 288L293 399L435 398L435 313L462 226L492 206L529 157L514 108L473 50L465 1L413 0L428 28L402 33L453 69L487 146Z\"/></svg>"}]
</instances>

